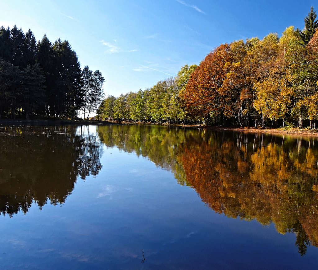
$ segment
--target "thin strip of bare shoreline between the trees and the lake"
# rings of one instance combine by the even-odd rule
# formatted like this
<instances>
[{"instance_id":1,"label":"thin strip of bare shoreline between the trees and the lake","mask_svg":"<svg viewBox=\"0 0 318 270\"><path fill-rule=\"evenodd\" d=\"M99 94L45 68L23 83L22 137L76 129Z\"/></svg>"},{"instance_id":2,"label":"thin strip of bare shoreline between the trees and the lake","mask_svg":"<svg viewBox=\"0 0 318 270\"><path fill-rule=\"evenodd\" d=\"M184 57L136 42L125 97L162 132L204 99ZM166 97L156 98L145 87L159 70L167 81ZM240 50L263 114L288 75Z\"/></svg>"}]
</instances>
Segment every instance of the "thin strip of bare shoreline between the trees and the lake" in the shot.
<instances>
[{"instance_id":1,"label":"thin strip of bare shoreline between the trees and the lake","mask_svg":"<svg viewBox=\"0 0 318 270\"><path fill-rule=\"evenodd\" d=\"M75 119L0 119L0 125L61 125L61 124L78 124L78 125L158 125L171 126L180 128L204 128L216 131L236 131L236 132L250 132L250 133L269 133L269 134L287 134L287 135L306 135L318 136L318 129L308 128L253 128L253 127L218 127L208 125L194 125L194 124L167 124L167 123L151 123L151 122L128 122L128 121L104 121L104 120L75 120Z\"/></svg>"}]
</instances>

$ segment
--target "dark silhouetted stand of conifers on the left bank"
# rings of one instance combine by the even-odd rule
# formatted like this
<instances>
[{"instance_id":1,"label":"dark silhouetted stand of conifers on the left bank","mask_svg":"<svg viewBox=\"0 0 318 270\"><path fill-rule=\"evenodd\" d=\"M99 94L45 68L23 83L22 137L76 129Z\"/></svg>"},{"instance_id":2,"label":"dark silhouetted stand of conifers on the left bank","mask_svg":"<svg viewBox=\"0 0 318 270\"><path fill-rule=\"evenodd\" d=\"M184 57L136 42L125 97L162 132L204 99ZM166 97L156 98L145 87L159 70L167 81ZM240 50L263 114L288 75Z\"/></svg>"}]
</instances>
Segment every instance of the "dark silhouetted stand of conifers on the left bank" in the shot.
<instances>
[{"instance_id":1,"label":"dark silhouetted stand of conifers on the left bank","mask_svg":"<svg viewBox=\"0 0 318 270\"><path fill-rule=\"evenodd\" d=\"M103 99L100 71L80 68L67 40L0 28L0 118L83 117Z\"/></svg>"}]
</instances>

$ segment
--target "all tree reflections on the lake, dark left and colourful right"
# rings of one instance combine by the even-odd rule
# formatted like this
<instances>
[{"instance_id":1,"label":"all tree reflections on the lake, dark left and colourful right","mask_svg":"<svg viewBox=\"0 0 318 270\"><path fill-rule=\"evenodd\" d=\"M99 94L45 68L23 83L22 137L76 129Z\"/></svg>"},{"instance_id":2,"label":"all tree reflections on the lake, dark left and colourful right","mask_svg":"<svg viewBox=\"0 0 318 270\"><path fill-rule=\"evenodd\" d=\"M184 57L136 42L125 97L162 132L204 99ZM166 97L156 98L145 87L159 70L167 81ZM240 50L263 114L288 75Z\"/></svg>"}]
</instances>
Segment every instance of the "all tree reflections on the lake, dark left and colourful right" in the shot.
<instances>
[{"instance_id":1,"label":"all tree reflections on the lake, dark left and colourful right","mask_svg":"<svg viewBox=\"0 0 318 270\"><path fill-rule=\"evenodd\" d=\"M219 214L294 232L301 255L318 246L314 138L138 125L0 128L0 211L64 203L78 178L102 169L103 145L172 171Z\"/></svg>"}]
</instances>

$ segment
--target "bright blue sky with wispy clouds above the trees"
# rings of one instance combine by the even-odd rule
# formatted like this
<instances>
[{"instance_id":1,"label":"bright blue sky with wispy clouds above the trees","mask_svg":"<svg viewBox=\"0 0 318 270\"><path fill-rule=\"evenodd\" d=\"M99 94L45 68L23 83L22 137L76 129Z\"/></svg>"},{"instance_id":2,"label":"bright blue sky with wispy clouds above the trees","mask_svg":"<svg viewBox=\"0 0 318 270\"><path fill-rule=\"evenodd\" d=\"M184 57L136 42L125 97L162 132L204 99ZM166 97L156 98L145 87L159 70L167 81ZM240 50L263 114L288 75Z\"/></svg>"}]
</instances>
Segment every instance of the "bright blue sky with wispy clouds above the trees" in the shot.
<instances>
[{"instance_id":1,"label":"bright blue sky with wispy clouds above the trees","mask_svg":"<svg viewBox=\"0 0 318 270\"><path fill-rule=\"evenodd\" d=\"M82 67L102 72L105 93L118 96L176 76L221 43L302 29L312 5L318 9L306 0L0 0L0 25L68 40Z\"/></svg>"}]
</instances>

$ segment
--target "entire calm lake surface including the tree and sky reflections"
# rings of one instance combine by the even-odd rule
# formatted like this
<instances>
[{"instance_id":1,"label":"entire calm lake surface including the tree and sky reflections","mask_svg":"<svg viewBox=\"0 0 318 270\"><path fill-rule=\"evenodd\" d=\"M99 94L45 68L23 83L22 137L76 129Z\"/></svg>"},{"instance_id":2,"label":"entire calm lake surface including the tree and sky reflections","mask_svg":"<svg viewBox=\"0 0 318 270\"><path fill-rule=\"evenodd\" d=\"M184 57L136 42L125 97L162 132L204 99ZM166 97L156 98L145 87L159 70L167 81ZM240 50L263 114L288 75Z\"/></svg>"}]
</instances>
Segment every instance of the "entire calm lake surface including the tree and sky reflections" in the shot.
<instances>
[{"instance_id":1,"label":"entire calm lake surface including the tree and sky reflections","mask_svg":"<svg viewBox=\"0 0 318 270\"><path fill-rule=\"evenodd\" d=\"M314 138L0 126L0 269L315 269L317 180Z\"/></svg>"}]
</instances>

